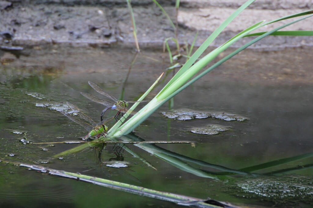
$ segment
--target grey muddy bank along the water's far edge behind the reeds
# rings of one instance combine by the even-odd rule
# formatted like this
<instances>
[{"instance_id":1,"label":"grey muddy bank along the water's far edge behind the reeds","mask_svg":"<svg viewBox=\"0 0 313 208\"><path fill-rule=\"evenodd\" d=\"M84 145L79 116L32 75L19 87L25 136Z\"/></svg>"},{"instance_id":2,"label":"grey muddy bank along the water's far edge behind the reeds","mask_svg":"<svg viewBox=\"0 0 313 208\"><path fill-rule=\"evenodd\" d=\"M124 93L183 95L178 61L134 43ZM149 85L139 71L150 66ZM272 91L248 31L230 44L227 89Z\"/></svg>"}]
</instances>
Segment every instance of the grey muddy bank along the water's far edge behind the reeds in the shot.
<instances>
[{"instance_id":1,"label":"grey muddy bank along the water's far edge behind the reeds","mask_svg":"<svg viewBox=\"0 0 313 208\"><path fill-rule=\"evenodd\" d=\"M174 1L159 1L175 22ZM199 31L200 45L240 4L237 1L184 0L178 13L180 42L191 43ZM160 47L174 30L162 11L152 1L132 1L138 40L141 47ZM256 1L227 27L214 46L222 44L249 25L271 20L312 7L310 1ZM0 1L3 46L38 44L89 45L108 47L114 44L134 46L132 24L126 1ZM313 18L298 22L286 30L311 30ZM274 26L267 27L272 29ZM247 42L246 38L235 46ZM253 47L277 48L311 46L313 38L267 37Z\"/></svg>"}]
</instances>

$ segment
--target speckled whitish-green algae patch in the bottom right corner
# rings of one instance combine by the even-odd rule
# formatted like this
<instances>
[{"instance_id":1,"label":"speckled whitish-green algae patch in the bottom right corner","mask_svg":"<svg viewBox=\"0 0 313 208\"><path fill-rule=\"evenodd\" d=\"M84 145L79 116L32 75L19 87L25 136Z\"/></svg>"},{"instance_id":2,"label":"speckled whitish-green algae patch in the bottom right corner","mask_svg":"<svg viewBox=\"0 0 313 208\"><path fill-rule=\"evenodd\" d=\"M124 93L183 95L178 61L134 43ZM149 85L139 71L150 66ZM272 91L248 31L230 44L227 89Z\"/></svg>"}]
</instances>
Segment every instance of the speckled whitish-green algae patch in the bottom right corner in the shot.
<instances>
[{"instance_id":1,"label":"speckled whitish-green algae patch in the bottom right corner","mask_svg":"<svg viewBox=\"0 0 313 208\"><path fill-rule=\"evenodd\" d=\"M313 205L313 181L311 177L283 176L255 178L233 184L238 198L257 199L276 207L311 207ZM309 206L301 206L301 205Z\"/></svg>"}]
</instances>

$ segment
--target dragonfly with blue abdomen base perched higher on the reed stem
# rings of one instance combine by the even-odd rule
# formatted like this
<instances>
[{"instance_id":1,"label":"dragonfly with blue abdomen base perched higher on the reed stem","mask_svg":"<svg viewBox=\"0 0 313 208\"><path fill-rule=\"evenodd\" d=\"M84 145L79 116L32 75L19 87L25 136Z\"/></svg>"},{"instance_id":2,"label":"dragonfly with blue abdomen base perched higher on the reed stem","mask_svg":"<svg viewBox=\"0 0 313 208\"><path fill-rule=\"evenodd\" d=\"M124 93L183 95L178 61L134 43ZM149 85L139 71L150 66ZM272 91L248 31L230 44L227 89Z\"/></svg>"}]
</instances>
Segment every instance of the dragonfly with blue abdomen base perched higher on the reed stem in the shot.
<instances>
[{"instance_id":1,"label":"dragonfly with blue abdomen base perched higher on the reed stem","mask_svg":"<svg viewBox=\"0 0 313 208\"><path fill-rule=\"evenodd\" d=\"M108 92L105 92L103 89L101 89L99 87L99 85L95 84L94 82L88 82L88 84L93 88L95 89L98 93L100 94L103 94L105 95L106 97L110 98L111 100L113 100L114 102L111 102L111 101L108 101L108 100L105 100L105 99L101 99L101 98L98 98L97 96L95 95L92 95L92 94L89 94L89 93L86 93L86 92L81 92L82 95L84 95L86 98L94 101L94 102L97 102L97 103L100 103L102 105L105 105L106 108L102 111L102 114L101 114L101 121L103 120L103 115L105 113L105 111L107 109L112 109L112 110L117 110L117 114L114 116L115 120L116 118L124 113L126 113L127 111L129 111L129 109L127 109L126 107L128 106L128 103L142 103L142 102L146 102L146 100L143 100L143 101L125 101L125 100L118 100L116 99L113 95L111 95L110 93ZM136 111L130 111L130 114L136 114L137 112Z\"/></svg>"}]
</instances>

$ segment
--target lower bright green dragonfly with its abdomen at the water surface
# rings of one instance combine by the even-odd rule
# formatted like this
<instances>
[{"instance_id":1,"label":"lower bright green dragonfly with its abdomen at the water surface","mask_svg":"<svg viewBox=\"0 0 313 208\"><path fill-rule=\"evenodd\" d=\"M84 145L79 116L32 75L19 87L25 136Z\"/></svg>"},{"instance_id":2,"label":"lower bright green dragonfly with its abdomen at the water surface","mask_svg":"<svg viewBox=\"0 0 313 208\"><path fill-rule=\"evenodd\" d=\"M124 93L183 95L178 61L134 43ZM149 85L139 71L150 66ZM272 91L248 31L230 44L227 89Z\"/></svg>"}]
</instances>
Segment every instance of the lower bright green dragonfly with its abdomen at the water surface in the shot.
<instances>
[{"instance_id":1,"label":"lower bright green dragonfly with its abdomen at the water surface","mask_svg":"<svg viewBox=\"0 0 313 208\"><path fill-rule=\"evenodd\" d=\"M80 118L84 119L88 123L91 123L91 125L90 125L87 122L78 119L73 114L70 114L70 113L65 112L65 111L61 111L61 113L63 115L65 115L66 117L68 117L69 119L74 121L75 123L78 123L81 126L85 127L89 131L89 133L83 138L83 140L86 140L89 137L92 137L92 136L95 136L95 135L97 135L97 137L99 137L101 135L101 133L105 136L105 133L108 131L108 127L106 125L104 125L104 124L106 122L110 121L111 119L113 119L114 117L111 117L111 118L106 119L104 121L101 121L99 123L95 123L94 120L92 120L89 116L84 114L76 105L74 105L72 103L69 103L69 102L67 102L66 104L73 111L73 113L77 114L78 116L80 116Z\"/></svg>"}]
</instances>

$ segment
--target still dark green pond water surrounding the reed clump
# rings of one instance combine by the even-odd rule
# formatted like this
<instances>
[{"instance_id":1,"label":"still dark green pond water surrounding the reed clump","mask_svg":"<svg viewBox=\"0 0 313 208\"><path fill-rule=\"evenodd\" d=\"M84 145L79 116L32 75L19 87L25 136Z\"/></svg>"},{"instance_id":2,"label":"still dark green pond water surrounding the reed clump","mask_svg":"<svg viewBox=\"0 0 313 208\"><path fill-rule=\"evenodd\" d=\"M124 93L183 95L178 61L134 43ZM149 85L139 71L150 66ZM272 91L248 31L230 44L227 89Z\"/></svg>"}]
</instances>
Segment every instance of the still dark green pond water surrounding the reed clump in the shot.
<instances>
[{"instance_id":1,"label":"still dark green pond water surrounding the reed clump","mask_svg":"<svg viewBox=\"0 0 313 208\"><path fill-rule=\"evenodd\" d=\"M99 151L92 148L54 157L80 145L55 142L82 141L88 133L59 110L71 102L100 121L104 106L80 94L101 97L88 81L118 99L136 100L169 67L162 52L141 52L131 70L135 56L131 49L36 46L15 55L1 52L0 206L180 207L29 171L6 160L238 206L311 207L313 73L309 54L310 49L239 54L178 94L171 110L169 104L163 105L132 133L145 141L195 145L127 144L122 148L108 144L99 161ZM168 72L145 100L151 100L172 74ZM181 112L191 119L181 119ZM212 126L224 130L201 134ZM200 134L192 133L199 128ZM168 157L178 162L173 164Z\"/></svg>"}]
</instances>

